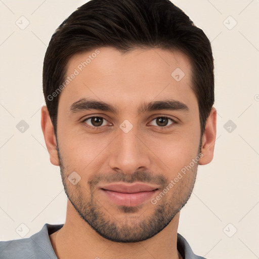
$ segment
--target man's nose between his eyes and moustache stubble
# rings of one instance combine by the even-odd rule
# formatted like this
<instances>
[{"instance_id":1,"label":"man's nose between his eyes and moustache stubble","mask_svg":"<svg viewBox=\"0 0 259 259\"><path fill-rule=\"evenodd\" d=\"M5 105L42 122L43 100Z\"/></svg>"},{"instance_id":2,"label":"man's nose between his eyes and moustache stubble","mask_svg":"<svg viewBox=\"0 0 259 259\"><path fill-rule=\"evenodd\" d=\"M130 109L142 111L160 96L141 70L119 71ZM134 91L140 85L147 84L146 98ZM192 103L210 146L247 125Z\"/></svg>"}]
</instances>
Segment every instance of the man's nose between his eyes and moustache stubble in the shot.
<instances>
[{"instance_id":1,"label":"man's nose between his eyes and moustache stubble","mask_svg":"<svg viewBox=\"0 0 259 259\"><path fill-rule=\"evenodd\" d=\"M124 174L133 174L137 169L148 169L151 163L151 151L137 132L133 129L124 133L118 129L118 136L111 143L109 166L121 170Z\"/></svg>"}]
</instances>

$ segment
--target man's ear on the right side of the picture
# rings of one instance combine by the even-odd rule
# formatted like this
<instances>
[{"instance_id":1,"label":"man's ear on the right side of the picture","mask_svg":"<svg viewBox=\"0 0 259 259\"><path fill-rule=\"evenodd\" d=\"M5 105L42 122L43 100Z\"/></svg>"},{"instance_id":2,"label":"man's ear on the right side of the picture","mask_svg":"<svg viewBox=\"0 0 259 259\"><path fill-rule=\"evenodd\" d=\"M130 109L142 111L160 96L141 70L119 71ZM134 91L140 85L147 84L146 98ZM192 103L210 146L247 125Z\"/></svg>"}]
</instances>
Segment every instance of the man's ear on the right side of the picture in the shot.
<instances>
[{"instance_id":1,"label":"man's ear on the right side of the picture","mask_svg":"<svg viewBox=\"0 0 259 259\"><path fill-rule=\"evenodd\" d=\"M199 164L208 164L211 162L214 153L215 139L217 134L217 111L214 107L211 108L206 121L205 130L202 136L202 145Z\"/></svg>"}]
</instances>

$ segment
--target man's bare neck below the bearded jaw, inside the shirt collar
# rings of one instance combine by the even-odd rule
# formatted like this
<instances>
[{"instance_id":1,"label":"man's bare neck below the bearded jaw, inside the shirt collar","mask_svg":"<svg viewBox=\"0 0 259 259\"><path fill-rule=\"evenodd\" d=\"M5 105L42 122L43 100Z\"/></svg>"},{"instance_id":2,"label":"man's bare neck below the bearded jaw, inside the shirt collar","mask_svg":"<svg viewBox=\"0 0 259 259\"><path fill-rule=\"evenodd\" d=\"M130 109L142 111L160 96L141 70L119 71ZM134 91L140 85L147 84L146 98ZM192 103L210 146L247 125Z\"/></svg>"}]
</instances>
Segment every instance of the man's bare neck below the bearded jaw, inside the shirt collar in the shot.
<instances>
[{"instance_id":1,"label":"man's bare neck below the bearded jaw, inside the shirt collar","mask_svg":"<svg viewBox=\"0 0 259 259\"><path fill-rule=\"evenodd\" d=\"M68 203L64 226L50 235L58 259L180 259L177 250L177 229L180 212L158 234L145 241L118 243L100 236L83 221Z\"/></svg>"}]
</instances>

